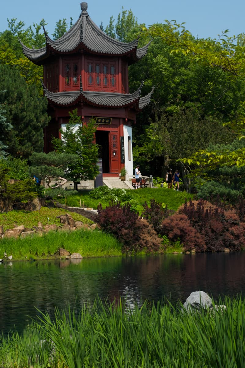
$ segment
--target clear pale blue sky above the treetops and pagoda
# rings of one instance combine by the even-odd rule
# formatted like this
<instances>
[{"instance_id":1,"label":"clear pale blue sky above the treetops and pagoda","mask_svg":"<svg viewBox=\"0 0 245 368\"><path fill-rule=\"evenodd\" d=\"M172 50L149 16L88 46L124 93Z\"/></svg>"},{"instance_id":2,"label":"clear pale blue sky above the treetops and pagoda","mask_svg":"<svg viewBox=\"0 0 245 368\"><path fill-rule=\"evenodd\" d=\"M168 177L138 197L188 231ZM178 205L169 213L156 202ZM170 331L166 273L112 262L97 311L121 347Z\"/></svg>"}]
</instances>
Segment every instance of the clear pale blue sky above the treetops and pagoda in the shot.
<instances>
[{"instance_id":1,"label":"clear pale blue sky above the treetops and pagoda","mask_svg":"<svg viewBox=\"0 0 245 368\"><path fill-rule=\"evenodd\" d=\"M164 23L166 19L185 22L185 28L199 38L216 38L225 29L230 30L230 36L245 33L244 0L90 0L87 3L90 18L97 25L102 22L106 26L111 15L116 21L124 7L125 10L131 9L138 22L146 25ZM66 18L69 23L72 17L75 22L80 11L78 0L5 0L0 12L0 32L7 29L7 18L24 21L25 28L44 18L51 35L59 19Z\"/></svg>"}]
</instances>

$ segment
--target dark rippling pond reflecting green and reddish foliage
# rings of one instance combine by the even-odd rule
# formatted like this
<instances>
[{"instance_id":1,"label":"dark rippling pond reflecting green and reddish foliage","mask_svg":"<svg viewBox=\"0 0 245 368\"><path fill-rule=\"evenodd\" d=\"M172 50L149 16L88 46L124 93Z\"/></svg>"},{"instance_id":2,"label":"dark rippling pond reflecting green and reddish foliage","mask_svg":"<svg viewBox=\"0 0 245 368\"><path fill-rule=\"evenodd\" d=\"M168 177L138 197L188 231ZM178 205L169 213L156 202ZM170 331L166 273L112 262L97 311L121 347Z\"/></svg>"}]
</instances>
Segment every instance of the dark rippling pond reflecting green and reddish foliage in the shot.
<instances>
[{"instance_id":1,"label":"dark rippling pond reflecting green and reddish foliage","mask_svg":"<svg viewBox=\"0 0 245 368\"><path fill-rule=\"evenodd\" d=\"M71 305L78 312L96 296L113 301L127 297L133 305L145 299L184 302L192 291L245 296L245 252L167 254L10 262L0 265L0 328L22 332L40 311ZM37 309L36 309L37 308Z\"/></svg>"}]
</instances>

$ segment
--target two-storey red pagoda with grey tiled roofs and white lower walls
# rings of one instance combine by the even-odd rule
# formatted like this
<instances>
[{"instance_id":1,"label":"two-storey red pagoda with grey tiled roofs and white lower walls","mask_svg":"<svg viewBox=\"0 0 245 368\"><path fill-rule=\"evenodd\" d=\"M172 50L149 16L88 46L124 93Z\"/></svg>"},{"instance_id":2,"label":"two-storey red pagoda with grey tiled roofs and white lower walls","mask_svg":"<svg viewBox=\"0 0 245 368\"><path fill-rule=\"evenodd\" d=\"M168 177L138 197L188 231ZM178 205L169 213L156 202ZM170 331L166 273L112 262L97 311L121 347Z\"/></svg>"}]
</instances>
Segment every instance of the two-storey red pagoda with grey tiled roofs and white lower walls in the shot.
<instances>
[{"instance_id":1,"label":"two-storey red pagoda with grey tiled roofs and white lower walls","mask_svg":"<svg viewBox=\"0 0 245 368\"><path fill-rule=\"evenodd\" d=\"M83 123L96 119L96 143L102 159L103 176L118 176L126 167L133 174L132 124L136 114L150 102L152 91L140 97L142 84L129 93L128 67L140 60L149 43L137 48L138 40L122 43L112 39L91 20L87 3L65 35L52 40L44 29L46 46L29 49L22 45L29 60L43 65L43 91L48 99L51 121L44 130L44 152L52 151L51 138L78 109Z\"/></svg>"}]
</instances>

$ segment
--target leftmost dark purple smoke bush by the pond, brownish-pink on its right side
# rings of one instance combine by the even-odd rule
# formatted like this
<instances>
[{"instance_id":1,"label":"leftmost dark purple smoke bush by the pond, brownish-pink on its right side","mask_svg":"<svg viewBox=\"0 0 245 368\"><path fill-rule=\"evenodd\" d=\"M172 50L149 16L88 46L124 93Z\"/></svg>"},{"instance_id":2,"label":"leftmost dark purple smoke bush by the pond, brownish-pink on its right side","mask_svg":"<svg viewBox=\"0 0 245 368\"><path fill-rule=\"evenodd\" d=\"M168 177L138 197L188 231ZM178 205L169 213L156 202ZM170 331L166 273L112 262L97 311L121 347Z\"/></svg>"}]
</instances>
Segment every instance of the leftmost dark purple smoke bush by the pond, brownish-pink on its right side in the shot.
<instances>
[{"instance_id":1,"label":"leftmost dark purple smoke bush by the pond, brownish-pink on its right side","mask_svg":"<svg viewBox=\"0 0 245 368\"><path fill-rule=\"evenodd\" d=\"M161 239L152 225L131 212L130 204L110 203L105 209L98 205L98 224L106 233L113 234L122 244L123 252L134 254L140 250L159 251Z\"/></svg>"}]
</instances>

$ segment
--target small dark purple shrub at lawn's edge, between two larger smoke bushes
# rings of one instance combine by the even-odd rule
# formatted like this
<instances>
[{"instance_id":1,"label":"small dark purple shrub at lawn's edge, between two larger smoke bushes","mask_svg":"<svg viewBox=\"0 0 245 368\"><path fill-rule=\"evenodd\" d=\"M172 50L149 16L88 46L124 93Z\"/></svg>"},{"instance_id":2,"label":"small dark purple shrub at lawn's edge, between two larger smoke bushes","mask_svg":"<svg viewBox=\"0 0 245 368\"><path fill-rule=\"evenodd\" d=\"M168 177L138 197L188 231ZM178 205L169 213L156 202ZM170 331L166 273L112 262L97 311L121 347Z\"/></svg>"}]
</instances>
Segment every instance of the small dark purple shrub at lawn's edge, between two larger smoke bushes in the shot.
<instances>
[{"instance_id":1,"label":"small dark purple shrub at lawn's edge, between two larger smoke bushes","mask_svg":"<svg viewBox=\"0 0 245 368\"><path fill-rule=\"evenodd\" d=\"M161 203L155 201L155 199L151 199L150 207L147 202L143 205L144 211L142 212L142 216L151 224L156 231L156 233L160 233L162 220L166 217L173 214L173 210L167 209L167 205L165 208L162 208Z\"/></svg>"}]
</instances>

